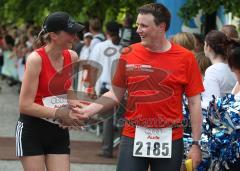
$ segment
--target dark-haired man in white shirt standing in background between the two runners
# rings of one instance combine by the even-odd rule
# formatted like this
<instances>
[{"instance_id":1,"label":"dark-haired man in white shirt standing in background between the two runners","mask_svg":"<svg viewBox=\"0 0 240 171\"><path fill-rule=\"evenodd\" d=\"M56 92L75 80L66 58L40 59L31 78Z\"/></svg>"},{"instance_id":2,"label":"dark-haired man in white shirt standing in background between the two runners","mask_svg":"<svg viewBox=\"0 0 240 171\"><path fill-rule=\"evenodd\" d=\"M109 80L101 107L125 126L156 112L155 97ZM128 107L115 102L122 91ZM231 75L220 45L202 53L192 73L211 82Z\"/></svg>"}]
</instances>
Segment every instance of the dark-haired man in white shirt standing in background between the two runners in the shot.
<instances>
[{"instance_id":1,"label":"dark-haired man in white shirt standing in background between the two runners","mask_svg":"<svg viewBox=\"0 0 240 171\"><path fill-rule=\"evenodd\" d=\"M122 46L120 45L119 24L117 22L110 21L106 24L106 37L107 40L98 43L90 55L91 60L99 62L102 66L101 75L95 84L95 91L98 96L101 96L111 89L111 70L112 68L116 68L113 66L114 61L120 57ZM98 153L98 155L102 157L111 158L113 155L113 114L114 109L104 112L102 149Z\"/></svg>"}]
</instances>

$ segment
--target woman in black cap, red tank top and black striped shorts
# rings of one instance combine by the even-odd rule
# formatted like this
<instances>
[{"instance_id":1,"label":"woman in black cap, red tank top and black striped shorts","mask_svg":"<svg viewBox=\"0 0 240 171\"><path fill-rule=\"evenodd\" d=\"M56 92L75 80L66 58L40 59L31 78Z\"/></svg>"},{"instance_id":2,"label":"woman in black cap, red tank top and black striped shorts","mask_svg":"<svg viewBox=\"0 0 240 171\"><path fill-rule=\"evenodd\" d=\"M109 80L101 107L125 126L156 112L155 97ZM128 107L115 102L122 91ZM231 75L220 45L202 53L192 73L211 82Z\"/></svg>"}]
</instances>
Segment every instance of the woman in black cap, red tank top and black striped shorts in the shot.
<instances>
[{"instance_id":1,"label":"woman in black cap, red tank top and black striped shorts","mask_svg":"<svg viewBox=\"0 0 240 171\"><path fill-rule=\"evenodd\" d=\"M62 117L57 107L66 105L64 97L72 82L71 64L78 59L69 49L82 29L65 12L50 14L39 33L44 46L28 57L16 127L16 155L25 171L44 171L45 167L51 171L70 170L68 130L52 119L69 125L76 122Z\"/></svg>"}]
</instances>

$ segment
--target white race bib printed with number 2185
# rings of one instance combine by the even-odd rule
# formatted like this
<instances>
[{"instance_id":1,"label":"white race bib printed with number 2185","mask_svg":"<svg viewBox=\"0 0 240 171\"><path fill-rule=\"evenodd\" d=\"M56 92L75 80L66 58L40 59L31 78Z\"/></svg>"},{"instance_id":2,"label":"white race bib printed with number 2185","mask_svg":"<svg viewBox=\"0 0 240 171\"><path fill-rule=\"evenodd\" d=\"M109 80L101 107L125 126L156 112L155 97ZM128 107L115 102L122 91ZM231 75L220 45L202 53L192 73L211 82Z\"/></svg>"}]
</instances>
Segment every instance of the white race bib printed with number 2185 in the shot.
<instances>
[{"instance_id":1,"label":"white race bib printed with number 2185","mask_svg":"<svg viewBox=\"0 0 240 171\"><path fill-rule=\"evenodd\" d=\"M171 158L172 128L136 127L133 156Z\"/></svg>"}]
</instances>

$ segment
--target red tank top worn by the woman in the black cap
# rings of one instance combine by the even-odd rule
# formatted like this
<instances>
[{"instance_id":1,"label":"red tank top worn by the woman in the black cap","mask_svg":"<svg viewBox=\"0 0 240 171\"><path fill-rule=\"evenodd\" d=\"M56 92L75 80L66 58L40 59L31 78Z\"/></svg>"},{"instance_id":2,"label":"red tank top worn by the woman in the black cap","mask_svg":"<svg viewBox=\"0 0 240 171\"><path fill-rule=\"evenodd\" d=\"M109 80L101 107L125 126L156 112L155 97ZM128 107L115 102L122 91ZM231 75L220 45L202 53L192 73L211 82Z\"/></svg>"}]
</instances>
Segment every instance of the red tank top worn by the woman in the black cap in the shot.
<instances>
[{"instance_id":1,"label":"red tank top worn by the woman in the black cap","mask_svg":"<svg viewBox=\"0 0 240 171\"><path fill-rule=\"evenodd\" d=\"M44 97L66 94L72 84L72 60L68 50L62 52L64 57L63 69L57 72L42 47L36 52L42 58L42 69L39 75L37 94L34 102L43 105Z\"/></svg>"}]
</instances>

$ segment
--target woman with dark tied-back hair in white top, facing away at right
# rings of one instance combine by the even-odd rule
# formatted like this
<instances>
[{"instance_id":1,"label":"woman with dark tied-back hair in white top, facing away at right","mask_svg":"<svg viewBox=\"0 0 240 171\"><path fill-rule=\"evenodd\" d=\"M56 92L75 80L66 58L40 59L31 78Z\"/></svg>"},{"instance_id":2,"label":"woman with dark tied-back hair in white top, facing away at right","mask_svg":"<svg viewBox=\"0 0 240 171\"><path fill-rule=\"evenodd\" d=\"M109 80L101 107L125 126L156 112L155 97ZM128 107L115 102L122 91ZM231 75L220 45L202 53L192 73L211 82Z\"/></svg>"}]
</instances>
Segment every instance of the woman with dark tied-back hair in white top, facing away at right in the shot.
<instances>
[{"instance_id":1,"label":"woman with dark tied-back hair in white top, facing away at right","mask_svg":"<svg viewBox=\"0 0 240 171\"><path fill-rule=\"evenodd\" d=\"M236 77L227 65L227 47L229 41L227 36L213 30L206 35L204 53L212 63L207 68L204 77L205 91L202 93L202 107L206 108L212 95L215 97L223 97L226 93L230 93L236 84Z\"/></svg>"}]
</instances>

